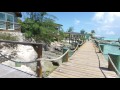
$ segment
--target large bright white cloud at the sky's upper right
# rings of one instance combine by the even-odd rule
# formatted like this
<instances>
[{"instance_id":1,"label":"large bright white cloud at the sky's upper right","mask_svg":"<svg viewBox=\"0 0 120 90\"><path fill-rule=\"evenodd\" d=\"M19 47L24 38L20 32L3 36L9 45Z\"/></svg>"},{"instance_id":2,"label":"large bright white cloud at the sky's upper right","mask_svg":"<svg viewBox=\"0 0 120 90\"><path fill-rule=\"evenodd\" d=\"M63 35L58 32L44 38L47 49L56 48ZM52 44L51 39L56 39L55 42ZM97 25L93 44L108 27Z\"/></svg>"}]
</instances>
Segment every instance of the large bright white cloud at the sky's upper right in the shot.
<instances>
[{"instance_id":1,"label":"large bright white cloud at the sky's upper right","mask_svg":"<svg viewBox=\"0 0 120 90\"><path fill-rule=\"evenodd\" d=\"M120 33L120 12L97 12L92 18L97 25L96 30L104 35L116 35Z\"/></svg>"}]
</instances>

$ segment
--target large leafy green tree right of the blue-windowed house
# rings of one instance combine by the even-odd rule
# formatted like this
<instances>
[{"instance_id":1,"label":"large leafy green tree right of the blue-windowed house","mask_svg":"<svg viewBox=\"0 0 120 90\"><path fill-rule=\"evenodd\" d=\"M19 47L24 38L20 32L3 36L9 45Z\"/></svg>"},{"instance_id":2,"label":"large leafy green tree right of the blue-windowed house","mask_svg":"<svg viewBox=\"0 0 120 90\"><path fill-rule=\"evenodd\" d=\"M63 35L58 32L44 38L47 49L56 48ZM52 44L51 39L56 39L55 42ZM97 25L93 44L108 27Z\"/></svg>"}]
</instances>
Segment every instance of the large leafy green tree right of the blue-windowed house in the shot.
<instances>
[{"instance_id":1,"label":"large leafy green tree right of the blue-windowed house","mask_svg":"<svg viewBox=\"0 0 120 90\"><path fill-rule=\"evenodd\" d=\"M21 23L22 32L25 33L26 39L36 42L45 42L50 44L50 42L63 39L64 33L62 30L57 30L57 24L54 19L48 18L45 12L29 12L30 18L26 18L24 22ZM59 35L58 35L59 32Z\"/></svg>"}]
</instances>

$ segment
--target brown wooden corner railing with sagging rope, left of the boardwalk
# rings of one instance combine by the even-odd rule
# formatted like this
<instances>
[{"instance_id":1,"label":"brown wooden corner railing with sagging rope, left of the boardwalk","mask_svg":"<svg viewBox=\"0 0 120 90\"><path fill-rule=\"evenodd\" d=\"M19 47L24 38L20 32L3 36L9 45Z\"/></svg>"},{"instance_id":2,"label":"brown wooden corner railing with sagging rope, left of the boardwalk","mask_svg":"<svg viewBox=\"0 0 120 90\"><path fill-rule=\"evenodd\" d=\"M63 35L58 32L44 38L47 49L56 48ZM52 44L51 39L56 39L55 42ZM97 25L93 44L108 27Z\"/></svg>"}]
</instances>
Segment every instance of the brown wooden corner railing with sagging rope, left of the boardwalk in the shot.
<instances>
[{"instance_id":1,"label":"brown wooden corner railing with sagging rope, left of the boardwalk","mask_svg":"<svg viewBox=\"0 0 120 90\"><path fill-rule=\"evenodd\" d=\"M10 43L10 44L30 45L37 52L37 54L38 54L37 59L42 58L42 43L17 42L17 41L7 41L7 40L0 40L0 42ZM36 67L37 77L42 77L42 66L41 66L40 60L34 60L34 61L30 61L30 62L20 62L20 61L11 60L8 57L6 57L5 55L2 55L1 53L0 53L0 55L2 57L6 58L7 60L10 60L10 61L15 62L15 63L34 63L34 62L37 62L37 67Z\"/></svg>"}]
</instances>

